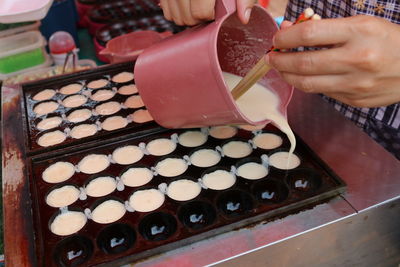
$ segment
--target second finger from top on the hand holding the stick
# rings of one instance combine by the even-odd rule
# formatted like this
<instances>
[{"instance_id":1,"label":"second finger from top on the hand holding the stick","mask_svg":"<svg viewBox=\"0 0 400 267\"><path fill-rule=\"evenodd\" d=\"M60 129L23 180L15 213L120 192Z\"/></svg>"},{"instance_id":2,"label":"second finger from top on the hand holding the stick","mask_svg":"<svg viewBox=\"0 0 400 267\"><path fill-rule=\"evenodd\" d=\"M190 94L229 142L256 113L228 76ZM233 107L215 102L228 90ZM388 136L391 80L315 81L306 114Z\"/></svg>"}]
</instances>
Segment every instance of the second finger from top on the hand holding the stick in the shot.
<instances>
[{"instance_id":1,"label":"second finger from top on the hand holding the stick","mask_svg":"<svg viewBox=\"0 0 400 267\"><path fill-rule=\"evenodd\" d=\"M343 74L352 69L343 56L343 48L305 52L270 52L266 55L269 65L281 72L303 75Z\"/></svg>"}]
</instances>

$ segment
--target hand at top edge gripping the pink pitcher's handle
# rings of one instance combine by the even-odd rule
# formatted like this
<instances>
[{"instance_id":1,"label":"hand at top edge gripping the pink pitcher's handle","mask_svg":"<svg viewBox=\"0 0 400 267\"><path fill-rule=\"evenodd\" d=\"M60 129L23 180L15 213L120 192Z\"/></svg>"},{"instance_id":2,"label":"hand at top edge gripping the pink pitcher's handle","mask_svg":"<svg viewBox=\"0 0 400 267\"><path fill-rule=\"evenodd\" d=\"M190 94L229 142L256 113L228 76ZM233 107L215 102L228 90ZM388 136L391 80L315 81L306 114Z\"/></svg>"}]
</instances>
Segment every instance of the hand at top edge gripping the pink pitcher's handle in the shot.
<instances>
[{"instance_id":1,"label":"hand at top edge gripping the pink pitcher's handle","mask_svg":"<svg viewBox=\"0 0 400 267\"><path fill-rule=\"evenodd\" d=\"M160 5L167 20L177 25L196 25L214 19L216 0L161 0ZM236 0L240 21L249 21L254 0Z\"/></svg>"}]
</instances>

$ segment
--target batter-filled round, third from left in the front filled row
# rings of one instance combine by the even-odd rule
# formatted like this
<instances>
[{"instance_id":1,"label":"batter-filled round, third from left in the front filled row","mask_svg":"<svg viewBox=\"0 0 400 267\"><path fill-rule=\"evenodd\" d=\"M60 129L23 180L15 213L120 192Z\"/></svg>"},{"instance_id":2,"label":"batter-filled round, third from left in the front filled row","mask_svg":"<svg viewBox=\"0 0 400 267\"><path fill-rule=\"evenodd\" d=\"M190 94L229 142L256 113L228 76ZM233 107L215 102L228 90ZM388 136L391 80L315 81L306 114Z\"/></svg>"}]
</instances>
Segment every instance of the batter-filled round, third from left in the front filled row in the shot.
<instances>
[{"instance_id":1,"label":"batter-filled round, third from left in the front filled row","mask_svg":"<svg viewBox=\"0 0 400 267\"><path fill-rule=\"evenodd\" d=\"M139 190L129 198L129 205L139 212L150 212L158 209L164 203L165 196L157 189Z\"/></svg>"}]
</instances>

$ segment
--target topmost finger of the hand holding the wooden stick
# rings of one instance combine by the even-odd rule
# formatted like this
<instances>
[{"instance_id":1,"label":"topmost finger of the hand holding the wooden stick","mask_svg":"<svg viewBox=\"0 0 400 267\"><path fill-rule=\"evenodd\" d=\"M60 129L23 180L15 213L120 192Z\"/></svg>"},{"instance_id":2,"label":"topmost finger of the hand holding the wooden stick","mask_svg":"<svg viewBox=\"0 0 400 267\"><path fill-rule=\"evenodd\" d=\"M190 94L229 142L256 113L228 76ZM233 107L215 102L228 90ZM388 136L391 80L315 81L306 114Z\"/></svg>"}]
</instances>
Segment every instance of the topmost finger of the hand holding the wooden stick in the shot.
<instances>
[{"instance_id":1,"label":"topmost finger of the hand holding the wooden stick","mask_svg":"<svg viewBox=\"0 0 400 267\"><path fill-rule=\"evenodd\" d=\"M346 42L352 31L347 18L310 20L278 31L274 46L280 49L300 46L334 45Z\"/></svg>"}]
</instances>

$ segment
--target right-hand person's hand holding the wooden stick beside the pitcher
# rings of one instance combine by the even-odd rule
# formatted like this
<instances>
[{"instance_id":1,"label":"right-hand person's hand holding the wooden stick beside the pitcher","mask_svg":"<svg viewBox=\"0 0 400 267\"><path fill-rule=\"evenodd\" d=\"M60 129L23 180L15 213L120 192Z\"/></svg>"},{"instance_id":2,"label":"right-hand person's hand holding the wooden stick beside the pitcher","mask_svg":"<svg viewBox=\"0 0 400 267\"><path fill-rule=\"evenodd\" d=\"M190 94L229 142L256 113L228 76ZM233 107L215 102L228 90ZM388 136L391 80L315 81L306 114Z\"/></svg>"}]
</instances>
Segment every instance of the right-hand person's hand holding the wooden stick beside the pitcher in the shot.
<instances>
[{"instance_id":1,"label":"right-hand person's hand holding the wooden stick beside the pitcher","mask_svg":"<svg viewBox=\"0 0 400 267\"><path fill-rule=\"evenodd\" d=\"M329 48L267 55L288 83L356 107L400 102L399 25L370 16L289 25L275 35L276 48Z\"/></svg>"}]
</instances>

